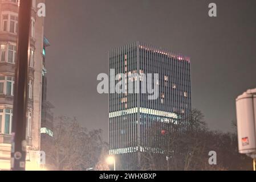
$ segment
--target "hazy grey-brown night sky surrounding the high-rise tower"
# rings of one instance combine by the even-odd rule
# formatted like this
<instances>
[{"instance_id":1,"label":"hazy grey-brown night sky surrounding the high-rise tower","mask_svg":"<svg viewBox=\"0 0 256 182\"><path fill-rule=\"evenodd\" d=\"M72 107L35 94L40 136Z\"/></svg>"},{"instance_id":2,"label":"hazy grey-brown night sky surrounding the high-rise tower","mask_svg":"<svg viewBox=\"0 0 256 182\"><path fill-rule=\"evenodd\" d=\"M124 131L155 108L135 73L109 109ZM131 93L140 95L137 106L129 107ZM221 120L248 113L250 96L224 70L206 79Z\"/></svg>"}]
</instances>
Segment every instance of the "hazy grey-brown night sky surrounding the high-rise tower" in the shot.
<instances>
[{"instance_id":1,"label":"hazy grey-brown night sky surrounding the high-rise tower","mask_svg":"<svg viewBox=\"0 0 256 182\"><path fill-rule=\"evenodd\" d=\"M138 40L190 56L192 107L213 130L232 131L235 98L256 87L255 0L46 0L45 35L55 116L101 128L106 140L108 96L96 77L108 73L112 48Z\"/></svg>"}]
</instances>

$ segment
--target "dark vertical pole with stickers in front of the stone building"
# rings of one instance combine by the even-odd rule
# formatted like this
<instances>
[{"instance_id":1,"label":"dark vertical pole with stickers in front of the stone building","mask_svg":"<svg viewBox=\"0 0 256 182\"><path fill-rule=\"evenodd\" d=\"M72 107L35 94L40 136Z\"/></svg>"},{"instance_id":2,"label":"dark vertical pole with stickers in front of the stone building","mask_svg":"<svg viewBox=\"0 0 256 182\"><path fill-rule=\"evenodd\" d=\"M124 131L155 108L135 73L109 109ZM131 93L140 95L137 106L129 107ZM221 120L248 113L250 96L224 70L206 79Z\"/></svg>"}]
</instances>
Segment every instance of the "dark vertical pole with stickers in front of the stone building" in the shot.
<instances>
[{"instance_id":1,"label":"dark vertical pole with stickers in front of the stone building","mask_svg":"<svg viewBox=\"0 0 256 182\"><path fill-rule=\"evenodd\" d=\"M19 2L18 52L15 65L11 142L11 169L13 171L25 171L26 167L27 70L30 46L31 5L32 0L22 0Z\"/></svg>"}]
</instances>

